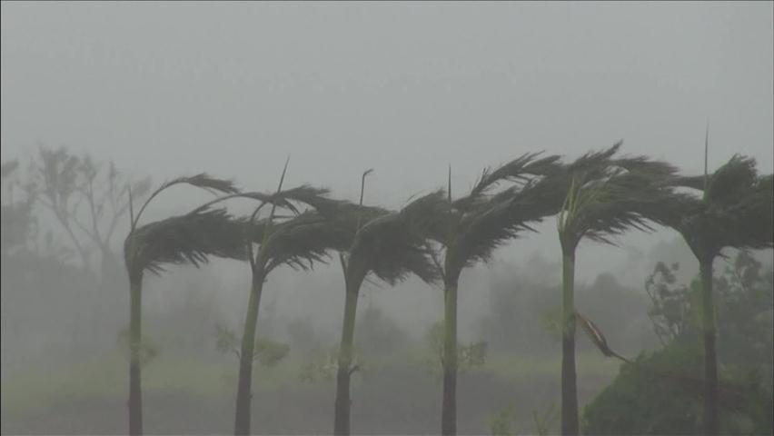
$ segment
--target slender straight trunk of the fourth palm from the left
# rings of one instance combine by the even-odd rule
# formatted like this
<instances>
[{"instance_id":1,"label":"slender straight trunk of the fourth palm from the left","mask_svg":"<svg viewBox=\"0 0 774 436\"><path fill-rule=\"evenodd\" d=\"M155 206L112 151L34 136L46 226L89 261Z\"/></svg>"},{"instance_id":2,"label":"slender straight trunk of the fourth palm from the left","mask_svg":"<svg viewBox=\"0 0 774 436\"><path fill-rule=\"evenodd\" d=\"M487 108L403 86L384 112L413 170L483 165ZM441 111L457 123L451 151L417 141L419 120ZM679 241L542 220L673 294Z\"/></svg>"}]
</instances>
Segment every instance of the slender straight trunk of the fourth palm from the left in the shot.
<instances>
[{"instance_id":1,"label":"slender straight trunk of the fourth palm from the left","mask_svg":"<svg viewBox=\"0 0 774 436\"><path fill-rule=\"evenodd\" d=\"M441 434L457 434L457 282L443 292L443 404Z\"/></svg>"}]
</instances>

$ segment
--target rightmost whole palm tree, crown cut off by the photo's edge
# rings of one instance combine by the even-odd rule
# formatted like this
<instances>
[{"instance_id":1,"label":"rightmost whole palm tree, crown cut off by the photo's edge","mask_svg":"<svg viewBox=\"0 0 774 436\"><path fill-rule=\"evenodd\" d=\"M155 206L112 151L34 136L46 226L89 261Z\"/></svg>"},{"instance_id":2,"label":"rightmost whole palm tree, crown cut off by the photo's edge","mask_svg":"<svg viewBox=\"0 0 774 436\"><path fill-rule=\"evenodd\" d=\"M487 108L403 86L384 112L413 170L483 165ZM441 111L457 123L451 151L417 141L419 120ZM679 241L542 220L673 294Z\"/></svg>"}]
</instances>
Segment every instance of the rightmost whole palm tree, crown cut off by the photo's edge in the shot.
<instances>
[{"instance_id":1,"label":"rightmost whole palm tree, crown cut off by the photo's edge","mask_svg":"<svg viewBox=\"0 0 774 436\"><path fill-rule=\"evenodd\" d=\"M712 263L724 248L762 249L772 236L772 174L759 175L755 159L734 155L714 173L678 177L676 186L703 191L674 196L668 225L685 239L699 261L704 337L704 430L719 434L718 358Z\"/></svg>"}]
</instances>

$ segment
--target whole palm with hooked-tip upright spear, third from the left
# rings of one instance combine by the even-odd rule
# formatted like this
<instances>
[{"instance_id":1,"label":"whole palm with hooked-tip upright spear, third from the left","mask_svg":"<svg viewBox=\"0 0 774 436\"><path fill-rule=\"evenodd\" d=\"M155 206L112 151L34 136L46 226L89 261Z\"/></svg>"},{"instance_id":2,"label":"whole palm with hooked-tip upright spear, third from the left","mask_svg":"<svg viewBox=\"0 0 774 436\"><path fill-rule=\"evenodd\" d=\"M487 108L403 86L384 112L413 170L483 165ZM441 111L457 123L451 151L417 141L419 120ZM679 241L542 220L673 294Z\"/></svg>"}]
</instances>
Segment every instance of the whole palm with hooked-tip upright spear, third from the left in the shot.
<instances>
[{"instance_id":1,"label":"whole palm with hooked-tip upright spear, third from the left","mask_svg":"<svg viewBox=\"0 0 774 436\"><path fill-rule=\"evenodd\" d=\"M367 173L363 173L363 183ZM362 282L370 274L390 285L410 274L424 282L437 280L426 238L442 198L441 191L430 193L395 213L362 206L362 192L360 205L338 204L336 221L348 233L349 243L340 251L345 297L333 412L335 435L350 434L350 380L358 369L352 366L352 347Z\"/></svg>"}]
</instances>

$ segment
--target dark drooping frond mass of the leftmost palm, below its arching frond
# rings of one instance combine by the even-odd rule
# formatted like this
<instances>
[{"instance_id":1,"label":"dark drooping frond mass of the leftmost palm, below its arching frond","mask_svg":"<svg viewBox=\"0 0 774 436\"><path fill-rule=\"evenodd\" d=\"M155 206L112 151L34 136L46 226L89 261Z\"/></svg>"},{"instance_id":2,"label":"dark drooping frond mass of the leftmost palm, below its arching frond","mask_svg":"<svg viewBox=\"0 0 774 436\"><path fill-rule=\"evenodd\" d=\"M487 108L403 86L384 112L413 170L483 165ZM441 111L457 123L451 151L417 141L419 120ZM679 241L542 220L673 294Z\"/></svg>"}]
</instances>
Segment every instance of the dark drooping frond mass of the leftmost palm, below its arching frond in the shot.
<instances>
[{"instance_id":1,"label":"dark drooping frond mass of the leftmost palm, below its arching frond","mask_svg":"<svg viewBox=\"0 0 774 436\"><path fill-rule=\"evenodd\" d=\"M199 267L208 256L244 259L243 220L224 209L209 209L145 224L124 242L130 272L159 274L164 264L191 263Z\"/></svg>"}]
</instances>

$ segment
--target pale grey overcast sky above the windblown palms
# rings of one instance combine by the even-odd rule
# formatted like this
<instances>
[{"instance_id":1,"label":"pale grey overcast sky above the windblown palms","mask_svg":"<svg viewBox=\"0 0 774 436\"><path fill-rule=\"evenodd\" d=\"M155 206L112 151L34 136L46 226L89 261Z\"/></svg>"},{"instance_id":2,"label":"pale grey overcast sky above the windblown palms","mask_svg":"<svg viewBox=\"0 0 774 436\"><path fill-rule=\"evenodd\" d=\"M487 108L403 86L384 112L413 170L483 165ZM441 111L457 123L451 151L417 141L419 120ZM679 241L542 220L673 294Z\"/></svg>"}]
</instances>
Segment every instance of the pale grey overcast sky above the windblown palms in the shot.
<instances>
[{"instance_id":1,"label":"pale grey overcast sky above the windblown palms","mask_svg":"<svg viewBox=\"0 0 774 436\"><path fill-rule=\"evenodd\" d=\"M771 172L772 39L770 2L3 2L2 158L268 190L291 154L289 184L354 199L373 167L366 202L396 207L449 164L461 190L619 139L699 172L709 122L711 166Z\"/></svg>"}]
</instances>

